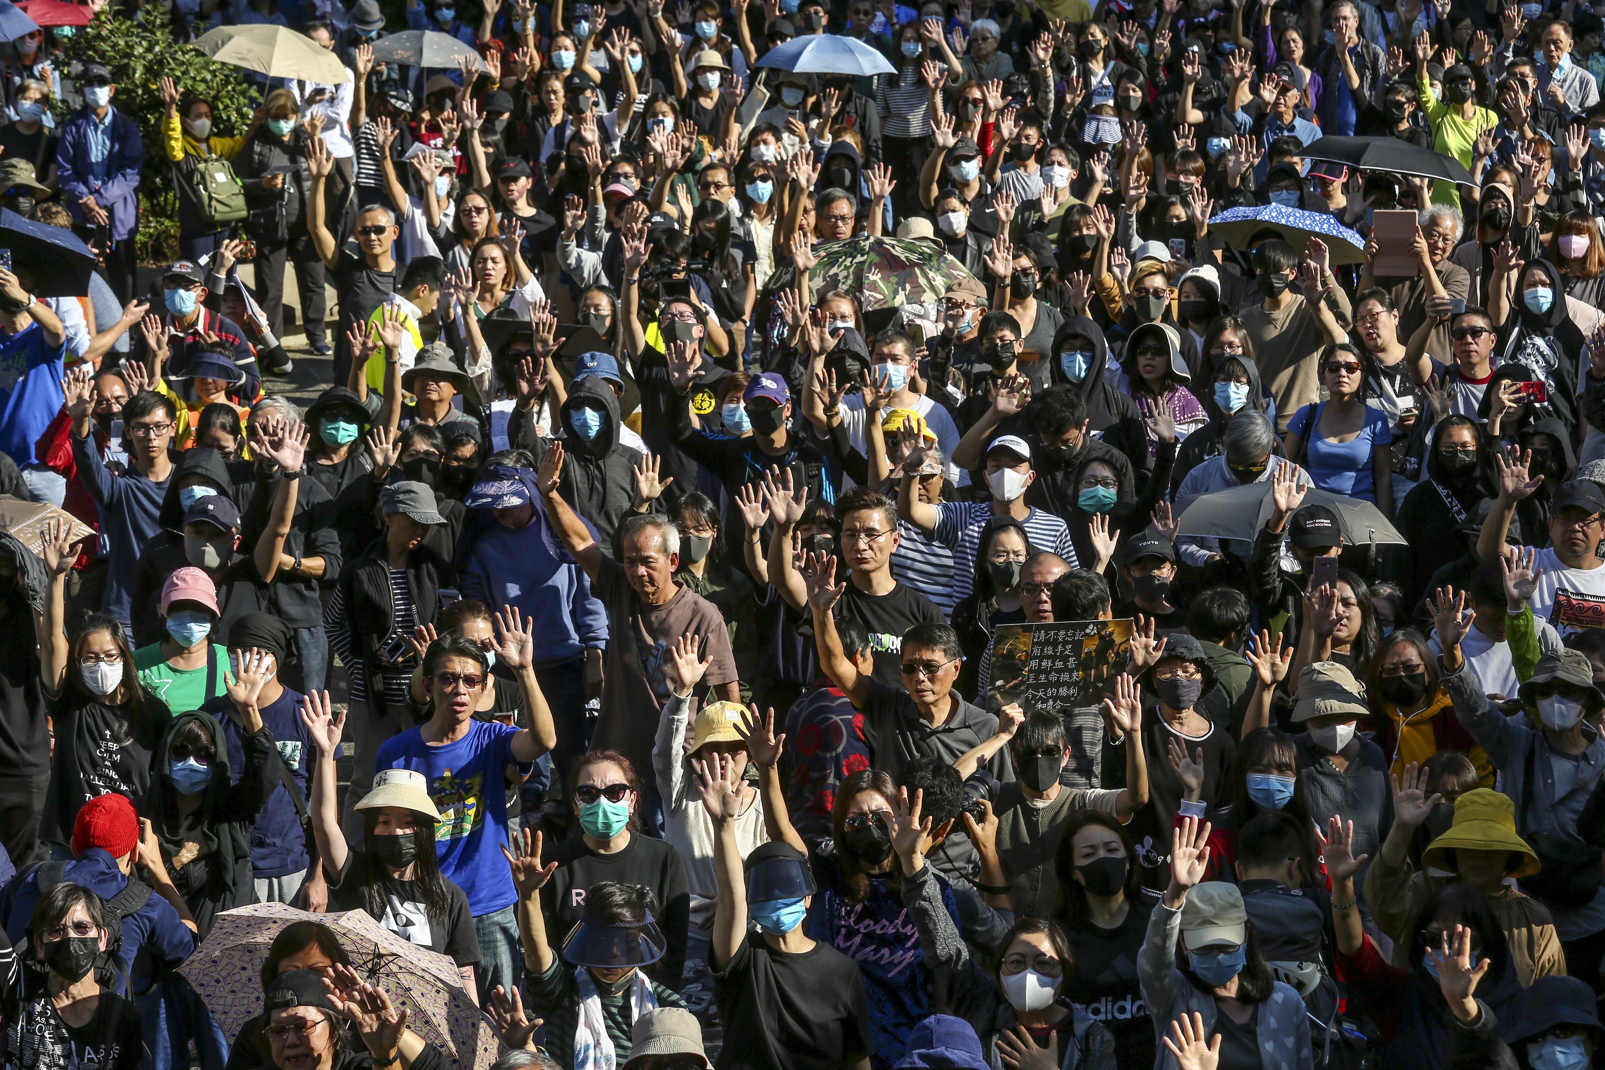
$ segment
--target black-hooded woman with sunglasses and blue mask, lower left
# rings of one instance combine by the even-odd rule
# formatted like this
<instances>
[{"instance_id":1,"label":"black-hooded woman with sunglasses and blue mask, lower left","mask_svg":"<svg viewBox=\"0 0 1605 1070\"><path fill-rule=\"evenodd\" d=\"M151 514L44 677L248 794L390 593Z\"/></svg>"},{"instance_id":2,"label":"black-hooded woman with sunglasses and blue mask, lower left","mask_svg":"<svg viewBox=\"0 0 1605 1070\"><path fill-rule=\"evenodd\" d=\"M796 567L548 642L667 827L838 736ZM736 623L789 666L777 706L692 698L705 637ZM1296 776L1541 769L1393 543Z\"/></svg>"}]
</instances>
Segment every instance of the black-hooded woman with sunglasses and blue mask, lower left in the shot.
<instances>
[{"instance_id":1,"label":"black-hooded woman with sunglasses and blue mask, lower left","mask_svg":"<svg viewBox=\"0 0 1605 1070\"><path fill-rule=\"evenodd\" d=\"M194 725L194 727L191 727ZM244 733L242 733L244 735ZM183 813L175 788L173 744L186 754L196 741L210 746L210 781L199 809ZM246 767L239 780L230 781L228 740L221 725L201 711L180 714L167 725L162 743L151 759L151 791L138 800L141 817L151 820L162 845L167 873L194 914L201 938L212 930L212 921L225 910L255 900L257 886L250 869L250 829L266 802L270 786L278 786L282 767L273 733L258 728L244 735ZM194 762L194 759L188 759ZM175 858L185 858L175 865Z\"/></svg>"}]
</instances>

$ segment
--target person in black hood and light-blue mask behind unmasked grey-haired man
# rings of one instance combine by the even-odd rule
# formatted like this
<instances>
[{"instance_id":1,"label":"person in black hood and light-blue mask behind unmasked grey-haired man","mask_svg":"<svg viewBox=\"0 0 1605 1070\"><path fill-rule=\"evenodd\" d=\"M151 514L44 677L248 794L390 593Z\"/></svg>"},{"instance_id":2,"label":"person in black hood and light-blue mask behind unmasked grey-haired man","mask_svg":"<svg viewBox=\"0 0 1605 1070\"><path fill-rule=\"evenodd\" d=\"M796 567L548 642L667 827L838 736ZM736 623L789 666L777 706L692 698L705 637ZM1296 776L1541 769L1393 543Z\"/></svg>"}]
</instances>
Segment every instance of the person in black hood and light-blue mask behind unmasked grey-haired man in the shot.
<instances>
[{"instance_id":1,"label":"person in black hood and light-blue mask behind unmasked grey-haired man","mask_svg":"<svg viewBox=\"0 0 1605 1070\"><path fill-rule=\"evenodd\" d=\"M613 531L636 504L634 462L640 452L620 443L618 395L595 375L576 379L562 409L563 420L563 501L597 529L597 545L613 557ZM507 427L509 444L528 449L536 467L551 449L534 433L534 422L518 419Z\"/></svg>"}]
</instances>

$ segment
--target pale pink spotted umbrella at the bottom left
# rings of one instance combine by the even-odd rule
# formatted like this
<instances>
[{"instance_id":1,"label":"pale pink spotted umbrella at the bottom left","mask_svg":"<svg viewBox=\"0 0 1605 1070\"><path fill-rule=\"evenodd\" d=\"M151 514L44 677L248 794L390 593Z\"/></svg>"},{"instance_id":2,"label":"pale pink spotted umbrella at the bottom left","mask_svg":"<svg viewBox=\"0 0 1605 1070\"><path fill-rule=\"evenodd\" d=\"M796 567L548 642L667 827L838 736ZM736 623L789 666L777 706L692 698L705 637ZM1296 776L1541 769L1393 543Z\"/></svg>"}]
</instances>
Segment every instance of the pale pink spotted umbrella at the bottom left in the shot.
<instances>
[{"instance_id":1,"label":"pale pink spotted umbrella at the bottom left","mask_svg":"<svg viewBox=\"0 0 1605 1070\"><path fill-rule=\"evenodd\" d=\"M363 980L384 988L395 1006L406 1007L408 1027L456 1059L462 1070L488 1070L496 1062L496 1031L469 999L449 958L408 943L361 910L310 914L284 903L223 911L207 938L178 967L205 999L230 1043L247 1020L262 1014L262 963L273 938L294 921L316 921L332 929Z\"/></svg>"}]
</instances>

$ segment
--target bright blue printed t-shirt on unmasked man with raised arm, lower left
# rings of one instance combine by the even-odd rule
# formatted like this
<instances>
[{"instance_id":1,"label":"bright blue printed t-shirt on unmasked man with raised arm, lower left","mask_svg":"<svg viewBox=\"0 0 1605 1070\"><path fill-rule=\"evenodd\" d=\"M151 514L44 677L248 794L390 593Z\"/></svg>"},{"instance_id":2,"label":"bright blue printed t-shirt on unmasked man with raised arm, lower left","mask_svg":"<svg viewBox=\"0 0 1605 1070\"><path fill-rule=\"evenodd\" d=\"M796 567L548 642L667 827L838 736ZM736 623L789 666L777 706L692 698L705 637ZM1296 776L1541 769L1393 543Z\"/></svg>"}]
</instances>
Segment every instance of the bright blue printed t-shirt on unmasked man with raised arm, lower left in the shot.
<instances>
[{"instance_id":1,"label":"bright blue printed t-shirt on unmasked man with raised arm, lower left","mask_svg":"<svg viewBox=\"0 0 1605 1070\"><path fill-rule=\"evenodd\" d=\"M475 918L518 902L512 871L501 853L507 842L507 764L518 728L493 720L469 722L469 735L456 743L424 743L421 728L403 732L379 748L374 768L411 768L424 773L429 794L440 809L435 853L440 876L454 881L469 897Z\"/></svg>"}]
</instances>

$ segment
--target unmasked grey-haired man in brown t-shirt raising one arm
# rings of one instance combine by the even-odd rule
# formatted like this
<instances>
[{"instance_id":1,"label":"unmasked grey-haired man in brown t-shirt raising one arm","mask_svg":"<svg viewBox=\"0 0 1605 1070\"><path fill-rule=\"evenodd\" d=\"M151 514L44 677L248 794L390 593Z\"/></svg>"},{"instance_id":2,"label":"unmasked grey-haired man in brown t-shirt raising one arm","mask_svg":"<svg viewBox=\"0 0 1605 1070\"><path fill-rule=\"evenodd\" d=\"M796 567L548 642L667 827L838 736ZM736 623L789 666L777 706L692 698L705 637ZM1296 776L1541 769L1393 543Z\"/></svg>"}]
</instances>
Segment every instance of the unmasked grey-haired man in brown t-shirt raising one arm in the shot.
<instances>
[{"instance_id":1,"label":"unmasked grey-haired man in brown t-shirt raising one arm","mask_svg":"<svg viewBox=\"0 0 1605 1070\"><path fill-rule=\"evenodd\" d=\"M681 533L668 517L626 517L615 534L618 560L602 552L595 529L559 492L563 457L562 441L554 441L541 460L536 486L552 529L607 606L607 687L591 746L620 751L634 764L636 775L642 778L637 818L645 828L658 829L661 797L653 783L652 744L663 703L672 690L663 664L669 659L669 648L690 635L698 659L713 661L698 695L740 703L730 632L711 602L674 581L681 566Z\"/></svg>"}]
</instances>

